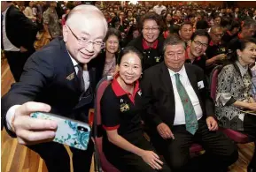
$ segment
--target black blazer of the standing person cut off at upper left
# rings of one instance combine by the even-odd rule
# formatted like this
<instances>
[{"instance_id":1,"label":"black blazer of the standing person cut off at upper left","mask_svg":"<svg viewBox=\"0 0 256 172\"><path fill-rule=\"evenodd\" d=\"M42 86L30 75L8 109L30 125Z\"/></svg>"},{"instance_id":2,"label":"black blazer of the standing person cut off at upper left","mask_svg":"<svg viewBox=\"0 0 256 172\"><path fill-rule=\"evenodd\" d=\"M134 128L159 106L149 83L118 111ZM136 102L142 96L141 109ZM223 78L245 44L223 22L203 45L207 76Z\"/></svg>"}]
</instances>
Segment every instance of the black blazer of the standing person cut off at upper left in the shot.
<instances>
[{"instance_id":1,"label":"black blazer of the standing person cut off at upper left","mask_svg":"<svg viewBox=\"0 0 256 172\"><path fill-rule=\"evenodd\" d=\"M34 49L34 41L37 33L37 27L28 19L23 12L19 11L14 5L11 5L6 12L5 30L7 38L12 44L20 48Z\"/></svg>"}]
</instances>

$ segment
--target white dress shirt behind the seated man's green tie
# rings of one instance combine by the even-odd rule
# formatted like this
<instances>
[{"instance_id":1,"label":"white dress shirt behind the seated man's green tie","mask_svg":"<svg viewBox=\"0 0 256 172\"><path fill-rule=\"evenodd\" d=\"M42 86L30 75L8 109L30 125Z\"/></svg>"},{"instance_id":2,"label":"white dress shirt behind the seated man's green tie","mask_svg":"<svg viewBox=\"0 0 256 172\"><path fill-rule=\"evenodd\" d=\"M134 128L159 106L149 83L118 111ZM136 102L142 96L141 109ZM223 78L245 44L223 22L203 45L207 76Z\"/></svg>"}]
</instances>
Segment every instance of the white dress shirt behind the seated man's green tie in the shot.
<instances>
[{"instance_id":1,"label":"white dress shirt behind the seated man's green tie","mask_svg":"<svg viewBox=\"0 0 256 172\"><path fill-rule=\"evenodd\" d=\"M198 101L198 96L190 84L190 79L188 78L188 75L187 75L184 65L182 66L182 69L178 72L172 71L170 69L168 69L168 71L169 71L169 74L170 74L170 77L172 80L172 85L173 85L173 89L174 89L174 93L175 93L175 122L174 122L174 125L181 125L181 124L186 123L184 108L183 108L182 101L181 101L180 95L179 95L177 87L176 87L176 79L175 79L176 73L180 74L180 80L182 82L182 85L184 86L186 92L188 93L188 95L190 97L190 101L194 107L197 118L199 120L203 116L203 111L202 111L202 108Z\"/></svg>"}]
</instances>

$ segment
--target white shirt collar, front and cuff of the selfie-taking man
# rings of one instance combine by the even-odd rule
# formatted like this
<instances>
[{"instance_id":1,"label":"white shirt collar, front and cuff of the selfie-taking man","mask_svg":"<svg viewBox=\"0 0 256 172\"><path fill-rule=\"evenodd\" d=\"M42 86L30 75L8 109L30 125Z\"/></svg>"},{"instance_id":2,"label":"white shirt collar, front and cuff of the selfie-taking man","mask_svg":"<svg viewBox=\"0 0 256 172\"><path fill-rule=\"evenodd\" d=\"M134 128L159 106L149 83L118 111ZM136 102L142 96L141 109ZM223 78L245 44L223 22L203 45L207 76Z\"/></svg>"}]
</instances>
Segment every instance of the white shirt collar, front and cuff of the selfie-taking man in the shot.
<instances>
[{"instance_id":1,"label":"white shirt collar, front and cuff of the selfie-taking man","mask_svg":"<svg viewBox=\"0 0 256 172\"><path fill-rule=\"evenodd\" d=\"M76 60L74 60L74 58L72 56L70 56L70 58L72 60L72 63L74 64L75 73L77 74L79 69L76 65L78 63L76 62ZM89 88L89 71L83 71L82 75L83 75L83 80L84 80L84 90L87 90ZM12 116L14 116L15 110L16 110L16 108L19 108L19 106L21 106L21 105L13 105L11 108L8 109L8 111L6 113L6 123L7 123L8 129L10 131L12 131L12 125L11 125Z\"/></svg>"}]
</instances>

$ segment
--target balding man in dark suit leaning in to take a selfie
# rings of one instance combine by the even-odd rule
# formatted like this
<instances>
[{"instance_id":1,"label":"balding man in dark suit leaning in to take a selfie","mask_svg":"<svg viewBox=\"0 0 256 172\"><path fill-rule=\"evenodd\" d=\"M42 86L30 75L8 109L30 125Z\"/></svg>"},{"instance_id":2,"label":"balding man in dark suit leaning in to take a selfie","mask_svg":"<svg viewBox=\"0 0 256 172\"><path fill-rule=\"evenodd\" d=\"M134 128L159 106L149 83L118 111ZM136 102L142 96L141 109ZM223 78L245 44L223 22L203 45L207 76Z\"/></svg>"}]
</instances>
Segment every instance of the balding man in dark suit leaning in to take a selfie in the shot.
<instances>
[{"instance_id":1,"label":"balding man in dark suit leaning in to take a selfie","mask_svg":"<svg viewBox=\"0 0 256 172\"><path fill-rule=\"evenodd\" d=\"M97 7L79 5L63 26L63 38L56 38L27 60L20 81L2 99L4 127L19 144L39 153L50 172L69 172L66 148L49 141L57 123L35 119L35 111L88 123L97 84L95 67L89 61L104 48L105 17ZM71 147L74 172L89 172L93 144L87 151Z\"/></svg>"}]
</instances>

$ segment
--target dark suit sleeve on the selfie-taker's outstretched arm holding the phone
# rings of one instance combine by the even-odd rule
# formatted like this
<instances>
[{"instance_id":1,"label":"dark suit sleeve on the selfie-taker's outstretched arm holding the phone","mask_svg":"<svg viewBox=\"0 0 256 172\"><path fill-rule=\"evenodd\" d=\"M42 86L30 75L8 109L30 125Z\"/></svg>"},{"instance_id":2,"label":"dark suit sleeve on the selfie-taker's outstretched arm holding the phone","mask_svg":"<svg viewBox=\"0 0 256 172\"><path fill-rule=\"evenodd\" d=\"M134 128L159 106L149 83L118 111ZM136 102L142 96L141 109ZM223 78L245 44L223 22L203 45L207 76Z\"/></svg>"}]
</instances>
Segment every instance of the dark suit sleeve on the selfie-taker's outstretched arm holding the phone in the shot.
<instances>
[{"instance_id":1,"label":"dark suit sleeve on the selfie-taker's outstretched arm holding the phone","mask_svg":"<svg viewBox=\"0 0 256 172\"><path fill-rule=\"evenodd\" d=\"M12 85L10 91L2 98L2 116L4 117L4 126L6 125L6 113L13 105L21 105L27 101L35 101L37 94L42 93L54 77L54 68L52 62L47 56L40 56L39 53L33 54L28 58L24 66L24 71L20 81ZM14 136L10 131L11 136Z\"/></svg>"}]
</instances>

